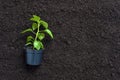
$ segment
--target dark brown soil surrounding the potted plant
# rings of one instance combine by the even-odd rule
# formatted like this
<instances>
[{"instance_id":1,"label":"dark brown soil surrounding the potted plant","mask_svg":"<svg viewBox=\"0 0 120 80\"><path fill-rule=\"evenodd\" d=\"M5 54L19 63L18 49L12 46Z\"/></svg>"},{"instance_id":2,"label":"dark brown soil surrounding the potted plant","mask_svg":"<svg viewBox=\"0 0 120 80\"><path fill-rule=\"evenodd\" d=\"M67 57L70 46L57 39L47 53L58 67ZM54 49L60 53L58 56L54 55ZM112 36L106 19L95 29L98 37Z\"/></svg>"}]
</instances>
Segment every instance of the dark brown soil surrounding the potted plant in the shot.
<instances>
[{"instance_id":1,"label":"dark brown soil surrounding the potted plant","mask_svg":"<svg viewBox=\"0 0 120 80\"><path fill-rule=\"evenodd\" d=\"M38 67L20 34L33 14L54 33ZM0 80L120 80L120 1L0 0L0 48Z\"/></svg>"}]
</instances>

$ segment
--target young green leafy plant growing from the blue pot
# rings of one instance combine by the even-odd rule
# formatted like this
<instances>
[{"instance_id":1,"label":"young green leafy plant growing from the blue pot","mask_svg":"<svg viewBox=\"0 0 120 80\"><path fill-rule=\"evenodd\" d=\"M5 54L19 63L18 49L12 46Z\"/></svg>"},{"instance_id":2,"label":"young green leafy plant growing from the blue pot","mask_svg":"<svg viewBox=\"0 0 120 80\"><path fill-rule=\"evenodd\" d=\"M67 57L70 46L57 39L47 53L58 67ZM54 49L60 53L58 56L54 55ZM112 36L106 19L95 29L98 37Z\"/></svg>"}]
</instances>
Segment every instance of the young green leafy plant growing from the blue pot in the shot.
<instances>
[{"instance_id":1,"label":"young green leafy plant growing from the blue pot","mask_svg":"<svg viewBox=\"0 0 120 80\"><path fill-rule=\"evenodd\" d=\"M53 34L51 30L48 29L48 23L41 20L41 18L36 15L33 15L33 17L30 18L30 20L33 21L32 27L25 29L21 32L32 32L34 34L34 37L31 35L27 37L26 45L32 46L33 49L36 50L44 49L42 40L45 38L45 33L47 33L53 39Z\"/></svg>"}]
</instances>

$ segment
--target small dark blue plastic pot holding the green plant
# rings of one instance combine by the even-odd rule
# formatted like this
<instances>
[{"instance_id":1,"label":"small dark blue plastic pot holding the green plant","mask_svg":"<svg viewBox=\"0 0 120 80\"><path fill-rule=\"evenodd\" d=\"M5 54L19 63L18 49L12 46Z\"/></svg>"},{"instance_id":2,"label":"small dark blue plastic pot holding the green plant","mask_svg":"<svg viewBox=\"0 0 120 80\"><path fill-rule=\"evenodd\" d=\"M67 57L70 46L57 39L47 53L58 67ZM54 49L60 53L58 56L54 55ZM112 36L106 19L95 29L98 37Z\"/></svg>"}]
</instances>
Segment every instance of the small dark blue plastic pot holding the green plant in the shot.
<instances>
[{"instance_id":1,"label":"small dark blue plastic pot holding the green plant","mask_svg":"<svg viewBox=\"0 0 120 80\"><path fill-rule=\"evenodd\" d=\"M28 65L40 65L42 61L43 50L33 50L26 48L26 63Z\"/></svg>"}]
</instances>

